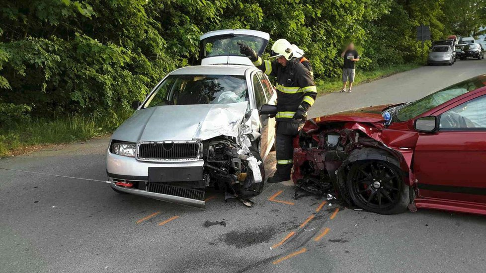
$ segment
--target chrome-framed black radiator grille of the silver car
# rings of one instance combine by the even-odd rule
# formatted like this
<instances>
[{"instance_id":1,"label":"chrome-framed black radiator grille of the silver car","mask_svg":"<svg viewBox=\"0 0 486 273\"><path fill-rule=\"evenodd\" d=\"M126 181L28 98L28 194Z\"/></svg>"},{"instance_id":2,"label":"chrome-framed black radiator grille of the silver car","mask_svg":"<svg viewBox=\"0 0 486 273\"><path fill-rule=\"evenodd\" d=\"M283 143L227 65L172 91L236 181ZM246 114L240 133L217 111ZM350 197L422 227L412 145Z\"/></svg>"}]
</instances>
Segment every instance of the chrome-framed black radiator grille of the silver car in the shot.
<instances>
[{"instance_id":1,"label":"chrome-framed black radiator grille of the silver car","mask_svg":"<svg viewBox=\"0 0 486 273\"><path fill-rule=\"evenodd\" d=\"M145 142L138 146L138 158L142 160L184 160L199 155L198 142Z\"/></svg>"}]
</instances>

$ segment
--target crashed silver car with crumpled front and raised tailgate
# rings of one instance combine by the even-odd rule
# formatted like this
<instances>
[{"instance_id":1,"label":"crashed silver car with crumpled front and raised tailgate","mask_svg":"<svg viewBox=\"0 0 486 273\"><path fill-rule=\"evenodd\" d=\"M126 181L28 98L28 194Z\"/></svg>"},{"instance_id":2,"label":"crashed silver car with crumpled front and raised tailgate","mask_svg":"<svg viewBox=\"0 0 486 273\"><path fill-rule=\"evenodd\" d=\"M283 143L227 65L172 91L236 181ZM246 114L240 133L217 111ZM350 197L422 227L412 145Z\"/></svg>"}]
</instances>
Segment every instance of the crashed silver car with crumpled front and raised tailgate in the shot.
<instances>
[{"instance_id":1,"label":"crashed silver car with crumpled front and raised tailgate","mask_svg":"<svg viewBox=\"0 0 486 273\"><path fill-rule=\"evenodd\" d=\"M208 187L245 204L262 191L275 124L257 109L276 93L237 43L261 55L269 34L218 30L200 40L201 66L166 75L111 136L106 170L116 192L204 208Z\"/></svg>"}]
</instances>

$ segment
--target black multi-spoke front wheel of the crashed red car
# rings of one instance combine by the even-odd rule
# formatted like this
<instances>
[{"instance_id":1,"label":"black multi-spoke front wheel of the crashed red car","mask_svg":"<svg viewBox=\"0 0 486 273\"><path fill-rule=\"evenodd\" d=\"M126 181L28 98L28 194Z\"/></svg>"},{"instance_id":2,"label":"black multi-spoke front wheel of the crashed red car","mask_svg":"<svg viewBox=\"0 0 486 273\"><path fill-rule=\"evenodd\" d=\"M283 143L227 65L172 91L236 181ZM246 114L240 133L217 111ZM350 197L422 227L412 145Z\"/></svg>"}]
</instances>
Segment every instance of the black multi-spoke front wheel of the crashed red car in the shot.
<instances>
[{"instance_id":1,"label":"black multi-spoke front wheel of the crashed red car","mask_svg":"<svg viewBox=\"0 0 486 273\"><path fill-rule=\"evenodd\" d=\"M404 212L409 197L401 172L386 161L357 161L346 181L351 200L363 209L381 214Z\"/></svg>"}]
</instances>

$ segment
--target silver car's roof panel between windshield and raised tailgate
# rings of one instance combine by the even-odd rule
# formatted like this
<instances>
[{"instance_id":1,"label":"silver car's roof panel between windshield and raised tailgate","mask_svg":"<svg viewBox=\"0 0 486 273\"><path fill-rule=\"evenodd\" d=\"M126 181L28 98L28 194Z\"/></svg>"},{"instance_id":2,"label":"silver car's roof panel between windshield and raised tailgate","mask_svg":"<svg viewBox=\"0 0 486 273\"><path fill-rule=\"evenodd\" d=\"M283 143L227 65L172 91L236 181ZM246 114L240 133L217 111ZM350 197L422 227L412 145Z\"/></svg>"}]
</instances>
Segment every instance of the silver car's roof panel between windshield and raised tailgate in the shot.
<instances>
[{"instance_id":1,"label":"silver car's roof panel between windshield and raised tailgate","mask_svg":"<svg viewBox=\"0 0 486 273\"><path fill-rule=\"evenodd\" d=\"M255 67L238 66L238 65L210 65L210 66L191 66L174 70L171 75L184 74L204 74L204 75L244 75L247 69L256 69Z\"/></svg>"}]
</instances>

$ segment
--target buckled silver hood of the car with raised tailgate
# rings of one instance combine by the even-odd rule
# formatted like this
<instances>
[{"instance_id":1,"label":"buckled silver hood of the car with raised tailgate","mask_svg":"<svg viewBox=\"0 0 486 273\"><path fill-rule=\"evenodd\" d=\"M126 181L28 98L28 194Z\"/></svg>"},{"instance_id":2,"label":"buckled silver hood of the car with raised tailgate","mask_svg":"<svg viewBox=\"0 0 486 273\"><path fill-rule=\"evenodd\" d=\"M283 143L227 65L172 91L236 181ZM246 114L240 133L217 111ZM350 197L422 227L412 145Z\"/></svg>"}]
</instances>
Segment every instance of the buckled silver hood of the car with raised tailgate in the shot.
<instances>
[{"instance_id":1,"label":"buckled silver hood of the car with raised tailgate","mask_svg":"<svg viewBox=\"0 0 486 273\"><path fill-rule=\"evenodd\" d=\"M231 104L168 105L136 111L111 136L139 142L206 140L239 135L248 102Z\"/></svg>"}]
</instances>

